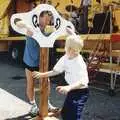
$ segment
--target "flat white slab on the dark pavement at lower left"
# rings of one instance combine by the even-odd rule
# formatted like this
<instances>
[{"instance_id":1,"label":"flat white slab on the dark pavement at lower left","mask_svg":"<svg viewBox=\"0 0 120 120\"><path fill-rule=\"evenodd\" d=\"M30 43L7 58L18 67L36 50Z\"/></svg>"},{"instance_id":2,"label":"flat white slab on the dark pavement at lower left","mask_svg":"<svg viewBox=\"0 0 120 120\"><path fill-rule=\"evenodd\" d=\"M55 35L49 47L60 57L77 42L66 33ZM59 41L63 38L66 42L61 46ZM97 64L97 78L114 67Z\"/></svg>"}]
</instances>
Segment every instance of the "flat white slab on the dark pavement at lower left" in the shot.
<instances>
[{"instance_id":1,"label":"flat white slab on the dark pavement at lower left","mask_svg":"<svg viewBox=\"0 0 120 120\"><path fill-rule=\"evenodd\" d=\"M29 110L28 103L0 88L0 120L18 120L20 116L29 117L27 116Z\"/></svg>"}]
</instances>

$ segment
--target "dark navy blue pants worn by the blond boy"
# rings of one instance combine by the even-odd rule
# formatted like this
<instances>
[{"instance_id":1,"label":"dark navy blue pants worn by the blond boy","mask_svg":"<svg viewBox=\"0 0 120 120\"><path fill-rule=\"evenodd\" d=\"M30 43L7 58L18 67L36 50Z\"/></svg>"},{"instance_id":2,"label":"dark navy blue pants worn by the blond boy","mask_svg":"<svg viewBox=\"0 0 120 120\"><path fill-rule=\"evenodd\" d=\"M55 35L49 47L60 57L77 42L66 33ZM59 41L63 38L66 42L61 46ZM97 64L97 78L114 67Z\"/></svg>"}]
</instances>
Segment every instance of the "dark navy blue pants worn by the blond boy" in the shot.
<instances>
[{"instance_id":1,"label":"dark navy blue pants worn by the blond boy","mask_svg":"<svg viewBox=\"0 0 120 120\"><path fill-rule=\"evenodd\" d=\"M88 88L72 90L68 93L61 111L63 120L80 120L84 104L89 96Z\"/></svg>"}]
</instances>

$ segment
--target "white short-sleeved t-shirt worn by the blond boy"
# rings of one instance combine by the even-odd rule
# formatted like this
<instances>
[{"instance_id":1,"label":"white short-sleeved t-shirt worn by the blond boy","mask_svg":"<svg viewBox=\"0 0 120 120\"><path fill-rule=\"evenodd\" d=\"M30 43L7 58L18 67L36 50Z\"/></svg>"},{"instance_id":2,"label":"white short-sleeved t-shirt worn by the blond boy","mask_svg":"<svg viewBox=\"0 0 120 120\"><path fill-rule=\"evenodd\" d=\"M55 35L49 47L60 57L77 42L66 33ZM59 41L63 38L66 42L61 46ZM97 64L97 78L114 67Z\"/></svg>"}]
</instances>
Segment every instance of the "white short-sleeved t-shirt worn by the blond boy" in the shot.
<instances>
[{"instance_id":1,"label":"white short-sleeved t-shirt worn by the blond boy","mask_svg":"<svg viewBox=\"0 0 120 120\"><path fill-rule=\"evenodd\" d=\"M83 87L88 87L87 66L80 54L73 59L69 59L65 54L54 66L53 71L65 72L65 80L69 85L80 83Z\"/></svg>"}]
</instances>

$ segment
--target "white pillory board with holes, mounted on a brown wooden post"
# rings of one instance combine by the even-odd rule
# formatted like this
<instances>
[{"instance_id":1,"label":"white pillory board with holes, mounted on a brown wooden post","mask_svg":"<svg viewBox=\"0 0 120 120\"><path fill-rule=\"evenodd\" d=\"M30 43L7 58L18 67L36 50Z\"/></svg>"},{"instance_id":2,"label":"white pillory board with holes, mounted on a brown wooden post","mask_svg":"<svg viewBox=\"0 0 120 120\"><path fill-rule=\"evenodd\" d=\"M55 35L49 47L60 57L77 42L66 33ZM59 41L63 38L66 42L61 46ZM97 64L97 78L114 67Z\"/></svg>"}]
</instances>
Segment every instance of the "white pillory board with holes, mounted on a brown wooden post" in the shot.
<instances>
[{"instance_id":1,"label":"white pillory board with holes, mounted on a brown wooden post","mask_svg":"<svg viewBox=\"0 0 120 120\"><path fill-rule=\"evenodd\" d=\"M42 1L43 3L47 3L46 0ZM26 12L26 13L18 13L18 14L13 14L11 17L11 26L12 28L21 34L27 34L25 29L21 29L19 30L18 27L16 27L15 24L15 20L16 19L20 19L23 20L24 22L28 23L29 25L31 25L31 28L33 28L34 31L34 35L33 38L36 39L36 41L40 44L41 48L40 48L40 72L45 72L48 71L48 61L49 61L49 47L53 47L53 44L55 42L55 39L57 39L57 37L60 36L64 36L66 35L66 31L65 28L67 26L70 26L71 29L74 30L74 26L71 22L63 19L58 13L57 11L54 9L54 7L48 5L48 4L41 4L37 6L38 9L33 9L31 12ZM43 9L46 8L46 9ZM58 30L60 28L60 30L58 30L58 33L53 32L52 36L50 37L45 37L43 34L38 34L38 25L39 25L39 21L38 21L38 15L43 12L43 11L50 11L52 12L52 14L54 15L54 27L56 28L56 30ZM27 17L27 18L26 18ZM32 23L31 23L31 18L32 18ZM61 22L62 21L62 22ZM60 27L62 25L62 27ZM61 29L62 28L62 29ZM53 30L54 31L54 30ZM41 39L42 41L41 41ZM49 39L49 41L48 41ZM36 117L36 120L45 120L44 118L48 118L47 120L56 120L57 118L53 118L50 117L52 115L55 115L56 113L50 113L48 114L48 78L42 78L40 80L40 104L39 104L39 115ZM59 112L59 111L58 111ZM58 113L57 113L58 114Z\"/></svg>"}]
</instances>

